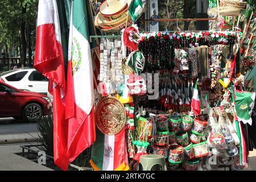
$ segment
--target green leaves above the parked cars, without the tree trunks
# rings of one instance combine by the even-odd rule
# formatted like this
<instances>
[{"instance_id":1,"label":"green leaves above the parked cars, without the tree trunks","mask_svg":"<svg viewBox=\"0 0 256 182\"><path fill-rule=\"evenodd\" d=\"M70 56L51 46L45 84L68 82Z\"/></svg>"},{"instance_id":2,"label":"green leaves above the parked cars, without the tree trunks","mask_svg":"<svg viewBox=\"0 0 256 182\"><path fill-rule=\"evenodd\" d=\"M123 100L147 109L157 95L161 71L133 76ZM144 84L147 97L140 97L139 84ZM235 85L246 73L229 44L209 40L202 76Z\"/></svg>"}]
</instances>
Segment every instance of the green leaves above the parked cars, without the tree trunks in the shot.
<instances>
[{"instance_id":1,"label":"green leaves above the parked cars, without the tree trunks","mask_svg":"<svg viewBox=\"0 0 256 182\"><path fill-rule=\"evenodd\" d=\"M5 45L10 49L20 47L20 27L22 20L26 23L26 29L30 26L31 32L35 35L38 1L0 0L0 45L2 47ZM22 13L23 9L26 10L25 14ZM32 41L35 42L35 40Z\"/></svg>"}]
</instances>

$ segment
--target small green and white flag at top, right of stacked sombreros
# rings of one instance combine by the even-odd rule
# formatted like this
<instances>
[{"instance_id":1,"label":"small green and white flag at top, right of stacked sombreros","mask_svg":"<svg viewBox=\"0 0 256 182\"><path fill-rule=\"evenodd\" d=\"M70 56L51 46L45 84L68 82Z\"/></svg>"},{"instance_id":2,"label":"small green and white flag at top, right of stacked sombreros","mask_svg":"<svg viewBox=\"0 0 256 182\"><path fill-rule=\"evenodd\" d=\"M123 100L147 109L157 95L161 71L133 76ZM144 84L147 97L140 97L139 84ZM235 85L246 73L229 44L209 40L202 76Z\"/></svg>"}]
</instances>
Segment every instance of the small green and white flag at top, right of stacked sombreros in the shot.
<instances>
[{"instance_id":1,"label":"small green and white flag at top, right of stacked sombreros","mask_svg":"<svg viewBox=\"0 0 256 182\"><path fill-rule=\"evenodd\" d=\"M142 0L133 0L129 6L129 14L131 19L136 22L139 19L139 16L143 13L143 3Z\"/></svg>"}]
</instances>

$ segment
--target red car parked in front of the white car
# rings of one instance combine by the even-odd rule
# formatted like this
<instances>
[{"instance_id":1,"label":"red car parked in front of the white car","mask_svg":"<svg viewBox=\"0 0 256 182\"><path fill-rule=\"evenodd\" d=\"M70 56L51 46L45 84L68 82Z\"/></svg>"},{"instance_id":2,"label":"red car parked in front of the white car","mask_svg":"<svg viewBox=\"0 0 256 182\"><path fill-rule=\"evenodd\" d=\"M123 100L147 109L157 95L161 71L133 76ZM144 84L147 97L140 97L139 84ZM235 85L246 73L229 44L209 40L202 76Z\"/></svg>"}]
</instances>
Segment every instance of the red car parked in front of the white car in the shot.
<instances>
[{"instance_id":1,"label":"red car parked in front of the white car","mask_svg":"<svg viewBox=\"0 0 256 182\"><path fill-rule=\"evenodd\" d=\"M51 99L44 94L16 89L0 80L0 118L33 122L51 114Z\"/></svg>"}]
</instances>

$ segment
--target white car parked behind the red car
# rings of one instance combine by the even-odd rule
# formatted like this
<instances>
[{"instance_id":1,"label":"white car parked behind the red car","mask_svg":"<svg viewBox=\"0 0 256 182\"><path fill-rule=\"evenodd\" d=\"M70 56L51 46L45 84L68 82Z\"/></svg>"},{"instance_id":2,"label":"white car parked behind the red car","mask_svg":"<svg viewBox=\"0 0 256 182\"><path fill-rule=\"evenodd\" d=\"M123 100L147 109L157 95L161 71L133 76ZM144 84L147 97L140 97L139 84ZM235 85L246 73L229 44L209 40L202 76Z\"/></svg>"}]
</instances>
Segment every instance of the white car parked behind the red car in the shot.
<instances>
[{"instance_id":1,"label":"white car parked behind the red car","mask_svg":"<svg viewBox=\"0 0 256 182\"><path fill-rule=\"evenodd\" d=\"M48 93L48 79L34 68L18 68L0 73L0 80L20 90Z\"/></svg>"}]
</instances>

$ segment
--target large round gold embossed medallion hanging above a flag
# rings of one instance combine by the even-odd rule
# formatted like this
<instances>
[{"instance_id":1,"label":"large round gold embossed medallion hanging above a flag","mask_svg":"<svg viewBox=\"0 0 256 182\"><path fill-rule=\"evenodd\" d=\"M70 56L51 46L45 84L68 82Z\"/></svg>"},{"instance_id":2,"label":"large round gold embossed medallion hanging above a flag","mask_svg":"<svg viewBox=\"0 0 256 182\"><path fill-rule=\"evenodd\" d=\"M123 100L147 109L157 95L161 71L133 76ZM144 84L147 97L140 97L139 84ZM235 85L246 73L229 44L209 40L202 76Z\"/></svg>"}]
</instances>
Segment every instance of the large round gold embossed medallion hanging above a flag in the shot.
<instances>
[{"instance_id":1,"label":"large round gold embossed medallion hanging above a flag","mask_svg":"<svg viewBox=\"0 0 256 182\"><path fill-rule=\"evenodd\" d=\"M96 126L101 133L118 134L126 123L125 106L114 97L105 97L95 109Z\"/></svg>"}]
</instances>

